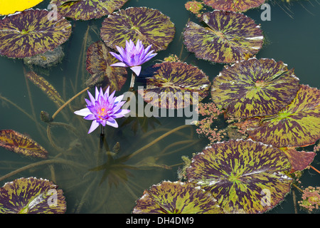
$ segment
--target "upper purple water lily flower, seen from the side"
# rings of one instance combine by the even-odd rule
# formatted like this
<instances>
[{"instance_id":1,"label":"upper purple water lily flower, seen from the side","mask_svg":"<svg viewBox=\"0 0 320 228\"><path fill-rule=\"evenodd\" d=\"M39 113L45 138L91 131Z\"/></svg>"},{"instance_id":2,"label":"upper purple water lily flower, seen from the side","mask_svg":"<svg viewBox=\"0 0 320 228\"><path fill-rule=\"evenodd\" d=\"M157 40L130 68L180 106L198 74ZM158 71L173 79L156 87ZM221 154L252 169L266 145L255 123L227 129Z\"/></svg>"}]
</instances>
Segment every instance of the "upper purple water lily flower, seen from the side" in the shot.
<instances>
[{"instance_id":1,"label":"upper purple water lily flower, seen from the side","mask_svg":"<svg viewBox=\"0 0 320 228\"><path fill-rule=\"evenodd\" d=\"M110 66L124 66L129 67L139 76L141 71L142 63L149 61L151 58L156 56L156 53L153 53L154 50L149 51L152 45L147 46L144 49L142 41L137 41L137 45L134 45L134 42L130 40L129 42L126 41L126 48L122 48L116 46L119 54L110 51L110 54L117 58L121 63L114 63Z\"/></svg>"}]
</instances>

